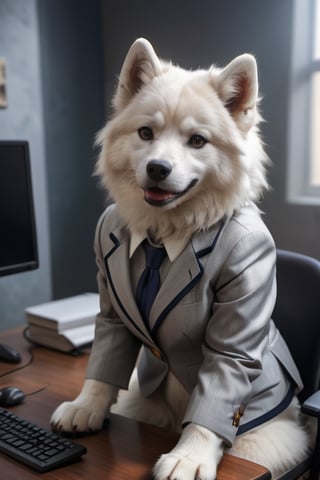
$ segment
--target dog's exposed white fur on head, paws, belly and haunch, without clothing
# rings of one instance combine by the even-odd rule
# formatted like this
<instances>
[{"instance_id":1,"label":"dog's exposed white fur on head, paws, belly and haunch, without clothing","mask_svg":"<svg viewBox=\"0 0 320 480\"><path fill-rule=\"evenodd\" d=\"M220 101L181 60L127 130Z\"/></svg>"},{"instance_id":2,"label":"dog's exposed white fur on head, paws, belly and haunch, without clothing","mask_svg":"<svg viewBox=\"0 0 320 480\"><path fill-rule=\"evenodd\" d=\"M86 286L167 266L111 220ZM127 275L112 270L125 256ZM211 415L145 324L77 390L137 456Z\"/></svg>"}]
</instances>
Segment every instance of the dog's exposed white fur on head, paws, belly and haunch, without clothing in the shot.
<instances>
[{"instance_id":1,"label":"dog's exposed white fur on head, paws, belly and haunch, without clothing","mask_svg":"<svg viewBox=\"0 0 320 480\"><path fill-rule=\"evenodd\" d=\"M258 135L258 80L255 59L242 55L224 69L186 71L159 60L152 46L137 40L124 62L114 97L115 113L100 132L97 173L118 204L129 230L147 229L157 241L204 230L267 188L267 157ZM152 141L138 135L152 128ZM190 137L203 136L202 148ZM171 173L154 185L146 173L150 160L165 159ZM190 180L195 185L184 192ZM153 186L184 192L161 208L144 195ZM125 352L123 352L125 355ZM149 398L140 394L134 372L128 392L86 380L73 402L52 416L57 430L98 430L113 412L181 431L189 396L169 372ZM112 408L111 408L112 406ZM272 421L237 437L231 453L266 465L275 478L301 460L310 440L300 426L296 399ZM223 454L223 441L200 425L189 424L176 447L158 460L156 480L213 480Z\"/></svg>"}]
</instances>

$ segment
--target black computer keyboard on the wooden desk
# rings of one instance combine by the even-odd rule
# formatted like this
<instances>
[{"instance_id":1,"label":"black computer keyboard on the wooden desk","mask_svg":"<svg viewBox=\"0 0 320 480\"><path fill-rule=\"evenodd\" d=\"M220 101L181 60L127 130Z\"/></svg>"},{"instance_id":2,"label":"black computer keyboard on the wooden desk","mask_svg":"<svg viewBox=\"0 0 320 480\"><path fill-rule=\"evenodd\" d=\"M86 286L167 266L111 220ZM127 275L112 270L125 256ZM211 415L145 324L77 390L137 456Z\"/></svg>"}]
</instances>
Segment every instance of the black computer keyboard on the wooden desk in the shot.
<instances>
[{"instance_id":1,"label":"black computer keyboard on the wooden desk","mask_svg":"<svg viewBox=\"0 0 320 480\"><path fill-rule=\"evenodd\" d=\"M0 452L47 472L80 458L87 449L0 408Z\"/></svg>"}]
</instances>

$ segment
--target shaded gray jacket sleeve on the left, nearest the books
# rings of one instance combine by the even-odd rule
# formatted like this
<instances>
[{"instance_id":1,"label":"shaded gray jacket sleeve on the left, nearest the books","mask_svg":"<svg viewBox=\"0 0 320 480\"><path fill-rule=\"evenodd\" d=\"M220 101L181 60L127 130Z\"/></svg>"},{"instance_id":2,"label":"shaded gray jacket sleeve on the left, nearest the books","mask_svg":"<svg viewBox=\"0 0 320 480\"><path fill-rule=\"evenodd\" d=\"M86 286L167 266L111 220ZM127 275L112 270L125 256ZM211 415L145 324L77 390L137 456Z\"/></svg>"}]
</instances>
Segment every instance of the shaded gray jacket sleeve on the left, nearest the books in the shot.
<instances>
[{"instance_id":1,"label":"shaded gray jacket sleeve on the left, nearest the books","mask_svg":"<svg viewBox=\"0 0 320 480\"><path fill-rule=\"evenodd\" d=\"M106 221L104 214L97 225L94 242L98 265L97 282L100 295L100 313L96 318L95 339L86 378L110 383L120 388L127 388L141 343L123 324L110 301L101 248L103 224Z\"/></svg>"}]
</instances>

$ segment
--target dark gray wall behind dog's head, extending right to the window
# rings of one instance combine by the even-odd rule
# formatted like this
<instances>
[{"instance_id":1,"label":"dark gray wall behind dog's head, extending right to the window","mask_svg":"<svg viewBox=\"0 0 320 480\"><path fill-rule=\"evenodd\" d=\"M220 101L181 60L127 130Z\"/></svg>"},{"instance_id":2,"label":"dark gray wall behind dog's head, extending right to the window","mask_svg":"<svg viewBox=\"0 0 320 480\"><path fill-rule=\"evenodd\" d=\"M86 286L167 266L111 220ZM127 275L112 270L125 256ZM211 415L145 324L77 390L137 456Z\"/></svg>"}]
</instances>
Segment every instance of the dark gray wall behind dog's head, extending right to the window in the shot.
<instances>
[{"instance_id":1,"label":"dark gray wall behind dog's head, extending right to the window","mask_svg":"<svg viewBox=\"0 0 320 480\"><path fill-rule=\"evenodd\" d=\"M101 0L108 95L131 42L145 36L187 68L223 66L243 52L258 61L263 139L273 166L261 204L277 246L320 258L320 208L286 201L292 0Z\"/></svg>"}]
</instances>

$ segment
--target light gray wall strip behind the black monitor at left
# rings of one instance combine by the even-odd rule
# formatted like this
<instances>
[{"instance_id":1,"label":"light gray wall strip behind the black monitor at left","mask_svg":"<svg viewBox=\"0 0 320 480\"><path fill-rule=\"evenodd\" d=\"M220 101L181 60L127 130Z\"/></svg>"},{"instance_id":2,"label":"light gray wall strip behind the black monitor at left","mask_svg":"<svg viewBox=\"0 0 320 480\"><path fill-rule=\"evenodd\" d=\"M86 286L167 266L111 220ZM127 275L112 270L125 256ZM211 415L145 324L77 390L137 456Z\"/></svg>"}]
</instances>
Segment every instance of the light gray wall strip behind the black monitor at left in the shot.
<instances>
[{"instance_id":1,"label":"light gray wall strip behind the black monitor at left","mask_svg":"<svg viewBox=\"0 0 320 480\"><path fill-rule=\"evenodd\" d=\"M37 2L0 0L0 56L7 59L9 106L0 109L0 139L28 140L40 268L0 277L0 330L24 322L27 305L51 298L50 242Z\"/></svg>"}]
</instances>

